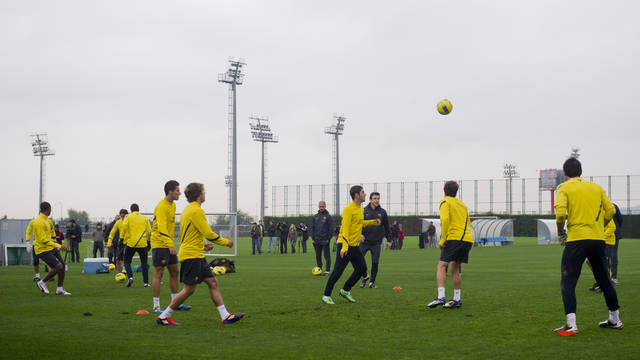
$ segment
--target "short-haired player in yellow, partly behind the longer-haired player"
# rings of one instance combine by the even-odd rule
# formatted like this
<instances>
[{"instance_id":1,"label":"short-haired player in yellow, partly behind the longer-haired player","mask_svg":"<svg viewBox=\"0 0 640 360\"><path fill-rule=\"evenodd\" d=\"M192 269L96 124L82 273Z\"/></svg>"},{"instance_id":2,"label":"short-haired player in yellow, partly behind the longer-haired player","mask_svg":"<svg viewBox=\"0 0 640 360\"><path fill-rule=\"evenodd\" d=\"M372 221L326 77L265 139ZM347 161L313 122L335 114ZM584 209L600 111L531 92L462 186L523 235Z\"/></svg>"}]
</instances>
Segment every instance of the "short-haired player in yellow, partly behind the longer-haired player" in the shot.
<instances>
[{"instance_id":1,"label":"short-haired player in yellow, partly behind the longer-haired player","mask_svg":"<svg viewBox=\"0 0 640 360\"><path fill-rule=\"evenodd\" d=\"M169 288L171 300L178 295L178 256L173 243L176 228L176 203L180 198L180 184L169 180L164 184L164 199L160 200L153 211L151 228L151 261L153 273L153 312L160 314L160 288L164 268L169 269ZM180 304L178 310L189 310L191 306Z\"/></svg>"}]
</instances>

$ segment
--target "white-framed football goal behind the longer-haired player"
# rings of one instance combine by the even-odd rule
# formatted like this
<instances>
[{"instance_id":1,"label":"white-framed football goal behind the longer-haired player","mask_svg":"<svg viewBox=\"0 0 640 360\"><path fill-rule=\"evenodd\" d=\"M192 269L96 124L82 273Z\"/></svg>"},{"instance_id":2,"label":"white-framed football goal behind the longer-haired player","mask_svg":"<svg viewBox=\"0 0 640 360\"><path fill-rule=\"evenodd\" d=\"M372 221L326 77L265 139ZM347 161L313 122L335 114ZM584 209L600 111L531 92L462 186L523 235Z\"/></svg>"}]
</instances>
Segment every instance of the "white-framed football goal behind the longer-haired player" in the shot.
<instances>
[{"instance_id":1,"label":"white-framed football goal behind the longer-haired player","mask_svg":"<svg viewBox=\"0 0 640 360\"><path fill-rule=\"evenodd\" d=\"M153 227L153 213L142 213L149 218ZM180 215L176 214L176 229L174 233L174 243L176 248L180 245ZM204 256L238 256L238 216L236 213L205 213L207 217L207 224L218 235L233 240L233 248L226 246L220 246L218 244L213 245L213 249L205 251Z\"/></svg>"}]
</instances>

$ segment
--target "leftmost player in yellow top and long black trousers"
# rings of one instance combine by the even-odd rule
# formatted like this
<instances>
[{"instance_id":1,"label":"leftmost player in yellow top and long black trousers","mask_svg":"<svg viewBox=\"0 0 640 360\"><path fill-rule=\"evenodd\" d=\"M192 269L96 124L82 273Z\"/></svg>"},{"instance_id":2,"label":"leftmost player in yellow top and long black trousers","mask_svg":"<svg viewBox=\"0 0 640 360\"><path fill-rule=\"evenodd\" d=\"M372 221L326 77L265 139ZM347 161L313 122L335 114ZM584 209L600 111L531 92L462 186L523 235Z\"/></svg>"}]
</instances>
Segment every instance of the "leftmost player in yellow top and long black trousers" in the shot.
<instances>
[{"instance_id":1,"label":"leftmost player in yellow top and long black trousers","mask_svg":"<svg viewBox=\"0 0 640 360\"><path fill-rule=\"evenodd\" d=\"M51 204L45 201L40 204L40 215L31 220L28 227L29 230L27 230L33 234L33 252L49 266L49 273L44 279L39 280L36 285L40 291L49 294L46 282L57 274L58 288L56 289L56 295L71 295L62 287L65 267L60 251L58 251L58 249L67 250L67 248L56 242L56 233L49 215L51 215ZM27 250L31 251L31 248Z\"/></svg>"}]
</instances>

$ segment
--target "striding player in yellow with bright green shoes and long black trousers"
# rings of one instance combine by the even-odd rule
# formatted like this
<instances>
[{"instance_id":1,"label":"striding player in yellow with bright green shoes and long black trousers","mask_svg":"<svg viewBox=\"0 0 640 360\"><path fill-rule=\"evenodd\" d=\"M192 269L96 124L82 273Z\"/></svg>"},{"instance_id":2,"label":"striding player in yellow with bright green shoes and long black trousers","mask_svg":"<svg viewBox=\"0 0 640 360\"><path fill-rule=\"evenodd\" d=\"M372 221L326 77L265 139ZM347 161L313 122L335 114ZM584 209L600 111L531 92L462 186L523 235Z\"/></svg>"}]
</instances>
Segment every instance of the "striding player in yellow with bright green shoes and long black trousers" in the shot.
<instances>
[{"instance_id":1,"label":"striding player in yellow with bright green shoes and long black trousers","mask_svg":"<svg viewBox=\"0 0 640 360\"><path fill-rule=\"evenodd\" d=\"M353 273L344 283L342 289L340 289L340 296L349 302L356 302L353 296L351 296L351 288L361 277L365 276L367 272L367 264L360 250L360 244L364 242L362 228L365 226L380 225L380 219L364 219L362 203L367 199L367 194L364 192L362 186L352 186L351 189L349 189L349 194L353 201L342 211L342 225L340 226L340 234L338 235L337 246L339 250L336 255L336 264L329 275L329 279L327 279L324 296L322 296L322 302L329 305L335 304L333 299L331 299L333 287L349 263L353 266Z\"/></svg>"}]
</instances>

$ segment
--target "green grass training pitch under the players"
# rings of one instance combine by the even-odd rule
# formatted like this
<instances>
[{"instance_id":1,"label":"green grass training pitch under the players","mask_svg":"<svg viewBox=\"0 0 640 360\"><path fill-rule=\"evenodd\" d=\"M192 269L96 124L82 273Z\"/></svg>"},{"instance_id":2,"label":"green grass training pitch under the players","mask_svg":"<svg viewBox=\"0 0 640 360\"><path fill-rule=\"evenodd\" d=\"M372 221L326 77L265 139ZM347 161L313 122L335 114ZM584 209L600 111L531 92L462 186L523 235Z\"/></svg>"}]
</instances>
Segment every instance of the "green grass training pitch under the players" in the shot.
<instances>
[{"instance_id":1,"label":"green grass training pitch under the players","mask_svg":"<svg viewBox=\"0 0 640 360\"><path fill-rule=\"evenodd\" d=\"M517 238L514 246L473 248L463 266L461 309L428 309L436 295L439 251L405 240L402 251L382 254L379 289L352 290L347 303L336 284L335 306L321 303L326 277L314 277L307 254L250 255L240 241L238 272L220 278L227 308L249 316L223 326L200 285L177 312L182 325L160 327L151 310L151 288L138 273L132 288L111 275L84 275L70 265L68 297L42 295L31 266L0 269L0 358L65 359L403 359L403 358L638 358L637 260L640 241L620 244L622 331L600 329L607 317L601 294L587 291L593 276L585 266L578 288L580 333L564 338L551 330L564 322L560 296L560 246ZM264 244L266 248L266 241ZM248 254L248 255L244 255ZM370 260L369 260L370 261ZM168 275L165 275L168 276ZM167 278L165 277L165 280ZM165 281L166 284L166 281ZM401 286L403 290L392 290ZM49 283L55 290L55 284ZM447 298L452 295L447 282ZM162 306L167 305L165 285Z\"/></svg>"}]
</instances>

